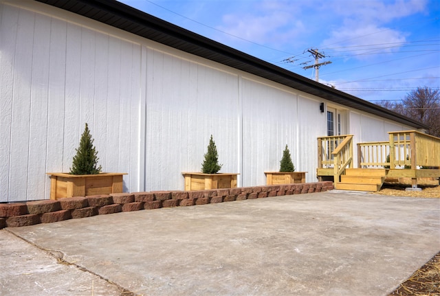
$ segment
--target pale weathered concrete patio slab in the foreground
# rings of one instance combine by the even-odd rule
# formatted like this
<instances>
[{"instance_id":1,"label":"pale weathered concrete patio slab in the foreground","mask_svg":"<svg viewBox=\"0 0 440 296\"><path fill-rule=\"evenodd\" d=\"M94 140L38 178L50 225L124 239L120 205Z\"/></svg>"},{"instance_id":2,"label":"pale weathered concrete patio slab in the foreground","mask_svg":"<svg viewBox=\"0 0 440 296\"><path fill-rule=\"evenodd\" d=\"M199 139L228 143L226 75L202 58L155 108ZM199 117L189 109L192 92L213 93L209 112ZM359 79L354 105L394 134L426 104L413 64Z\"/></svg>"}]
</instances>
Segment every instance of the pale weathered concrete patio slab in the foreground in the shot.
<instances>
[{"instance_id":1,"label":"pale weathered concrete patio slab in the foreground","mask_svg":"<svg viewBox=\"0 0 440 296\"><path fill-rule=\"evenodd\" d=\"M54 295L65 278L50 268L117 285L83 295L387 295L440 250L440 198L320 192L124 212L3 229L0 247L0 295Z\"/></svg>"}]
</instances>

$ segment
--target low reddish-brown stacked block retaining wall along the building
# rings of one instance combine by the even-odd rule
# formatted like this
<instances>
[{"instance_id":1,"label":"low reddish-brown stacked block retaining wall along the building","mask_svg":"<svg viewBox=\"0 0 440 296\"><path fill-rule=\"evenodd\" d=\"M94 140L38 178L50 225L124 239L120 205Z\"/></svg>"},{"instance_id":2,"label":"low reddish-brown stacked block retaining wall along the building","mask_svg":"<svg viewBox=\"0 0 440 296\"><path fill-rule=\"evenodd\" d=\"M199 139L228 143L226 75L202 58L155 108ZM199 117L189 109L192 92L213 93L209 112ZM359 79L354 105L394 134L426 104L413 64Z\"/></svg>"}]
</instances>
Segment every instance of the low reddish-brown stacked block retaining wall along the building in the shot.
<instances>
[{"instance_id":1,"label":"low reddish-brown stacked block retaining wall along the building","mask_svg":"<svg viewBox=\"0 0 440 296\"><path fill-rule=\"evenodd\" d=\"M153 191L110 195L74 196L58 201L0 203L0 229L39 223L53 223L72 218L132 212L160 207L187 207L253 198L324 192L333 189L330 181L287 185L265 185L200 191Z\"/></svg>"}]
</instances>

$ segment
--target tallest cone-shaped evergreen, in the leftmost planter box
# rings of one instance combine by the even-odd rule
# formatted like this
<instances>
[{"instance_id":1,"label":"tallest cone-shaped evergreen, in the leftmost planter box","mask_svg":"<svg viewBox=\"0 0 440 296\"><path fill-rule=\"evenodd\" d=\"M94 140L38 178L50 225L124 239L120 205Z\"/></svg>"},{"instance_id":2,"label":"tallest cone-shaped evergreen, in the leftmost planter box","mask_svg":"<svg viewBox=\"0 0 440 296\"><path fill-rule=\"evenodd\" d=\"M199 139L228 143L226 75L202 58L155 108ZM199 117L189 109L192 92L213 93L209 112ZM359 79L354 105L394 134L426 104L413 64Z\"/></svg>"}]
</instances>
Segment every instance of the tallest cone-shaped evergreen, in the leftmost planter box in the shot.
<instances>
[{"instance_id":1,"label":"tallest cone-shaped evergreen, in the leftmost planter box","mask_svg":"<svg viewBox=\"0 0 440 296\"><path fill-rule=\"evenodd\" d=\"M94 147L89 126L85 124L85 130L81 135L80 146L76 149L76 155L70 169L70 174L99 174L102 170L98 167L98 151Z\"/></svg>"}]
</instances>

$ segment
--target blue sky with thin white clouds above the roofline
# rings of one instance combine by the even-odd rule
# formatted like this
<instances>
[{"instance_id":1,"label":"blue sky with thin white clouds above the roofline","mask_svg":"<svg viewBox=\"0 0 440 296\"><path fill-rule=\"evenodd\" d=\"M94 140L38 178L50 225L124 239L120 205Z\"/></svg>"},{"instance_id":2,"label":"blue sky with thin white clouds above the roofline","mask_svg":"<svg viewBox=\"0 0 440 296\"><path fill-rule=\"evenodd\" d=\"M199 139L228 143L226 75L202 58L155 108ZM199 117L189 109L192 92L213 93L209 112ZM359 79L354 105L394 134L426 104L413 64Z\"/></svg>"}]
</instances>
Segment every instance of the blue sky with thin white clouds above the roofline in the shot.
<instances>
[{"instance_id":1,"label":"blue sky with thin white clouds above the roofline","mask_svg":"<svg viewBox=\"0 0 440 296\"><path fill-rule=\"evenodd\" d=\"M121 0L364 100L440 88L440 0ZM285 62L290 59L292 62Z\"/></svg>"}]
</instances>

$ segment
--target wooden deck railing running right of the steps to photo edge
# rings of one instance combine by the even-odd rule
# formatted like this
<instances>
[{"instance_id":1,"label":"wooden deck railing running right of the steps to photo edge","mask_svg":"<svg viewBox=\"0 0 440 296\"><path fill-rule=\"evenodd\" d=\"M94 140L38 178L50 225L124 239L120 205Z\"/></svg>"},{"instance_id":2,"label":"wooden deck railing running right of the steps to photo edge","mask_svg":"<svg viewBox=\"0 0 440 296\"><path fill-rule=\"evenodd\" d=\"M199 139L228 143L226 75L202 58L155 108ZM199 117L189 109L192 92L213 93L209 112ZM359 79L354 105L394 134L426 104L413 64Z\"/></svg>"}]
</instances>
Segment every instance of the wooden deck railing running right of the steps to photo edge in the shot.
<instances>
[{"instance_id":1,"label":"wooden deck railing running right of the steps to photo edge","mask_svg":"<svg viewBox=\"0 0 440 296\"><path fill-rule=\"evenodd\" d=\"M388 134L389 141L358 144L358 168L440 166L440 138L417 130Z\"/></svg>"}]
</instances>

